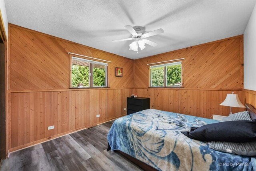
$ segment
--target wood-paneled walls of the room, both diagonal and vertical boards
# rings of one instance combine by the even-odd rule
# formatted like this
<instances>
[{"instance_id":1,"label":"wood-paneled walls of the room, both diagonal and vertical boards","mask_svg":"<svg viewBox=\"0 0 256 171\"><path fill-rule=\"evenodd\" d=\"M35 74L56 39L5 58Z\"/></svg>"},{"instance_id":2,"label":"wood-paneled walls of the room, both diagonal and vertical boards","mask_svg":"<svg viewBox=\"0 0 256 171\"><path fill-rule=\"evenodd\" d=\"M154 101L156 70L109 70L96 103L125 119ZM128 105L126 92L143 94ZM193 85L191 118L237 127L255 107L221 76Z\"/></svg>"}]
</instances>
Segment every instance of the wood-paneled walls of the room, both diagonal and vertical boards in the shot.
<instances>
[{"instance_id":1,"label":"wood-paneled walls of the room, both diagonal and vertical boards","mask_svg":"<svg viewBox=\"0 0 256 171\"><path fill-rule=\"evenodd\" d=\"M229 107L219 104L231 91L256 106L255 94L243 91L242 36L139 60L13 24L8 40L9 151L126 115L126 97L134 92L150 97L152 108L206 118L228 115ZM110 88L69 89L68 52L112 61ZM148 87L146 64L179 58L186 58L184 88ZM122 78L115 77L116 67L124 69ZM55 129L48 130L50 125Z\"/></svg>"}]
</instances>

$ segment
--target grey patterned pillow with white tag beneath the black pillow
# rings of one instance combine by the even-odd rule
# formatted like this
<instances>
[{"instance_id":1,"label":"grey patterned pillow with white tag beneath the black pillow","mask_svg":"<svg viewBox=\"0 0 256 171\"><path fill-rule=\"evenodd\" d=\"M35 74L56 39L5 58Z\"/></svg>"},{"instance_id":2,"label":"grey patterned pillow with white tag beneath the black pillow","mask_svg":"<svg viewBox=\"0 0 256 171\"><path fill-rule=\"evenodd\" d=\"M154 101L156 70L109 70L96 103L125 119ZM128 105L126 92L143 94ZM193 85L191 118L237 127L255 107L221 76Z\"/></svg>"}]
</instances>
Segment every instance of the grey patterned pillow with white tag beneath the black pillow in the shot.
<instances>
[{"instance_id":1,"label":"grey patterned pillow with white tag beneath the black pillow","mask_svg":"<svg viewBox=\"0 0 256 171\"><path fill-rule=\"evenodd\" d=\"M245 156L256 156L256 141L246 143L210 141L208 142L208 145L211 149L225 153L232 153Z\"/></svg>"}]
</instances>

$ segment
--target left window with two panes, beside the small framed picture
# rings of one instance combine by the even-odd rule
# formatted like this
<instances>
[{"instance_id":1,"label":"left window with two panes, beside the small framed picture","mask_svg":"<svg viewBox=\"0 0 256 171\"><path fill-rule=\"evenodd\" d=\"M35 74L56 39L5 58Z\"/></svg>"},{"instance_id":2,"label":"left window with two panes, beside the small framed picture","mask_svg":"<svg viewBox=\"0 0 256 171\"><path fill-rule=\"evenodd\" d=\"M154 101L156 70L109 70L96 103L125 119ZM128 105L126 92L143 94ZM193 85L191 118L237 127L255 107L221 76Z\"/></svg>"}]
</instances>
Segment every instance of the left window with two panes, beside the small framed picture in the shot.
<instances>
[{"instance_id":1,"label":"left window with two panes, beside the small framed picture","mask_svg":"<svg viewBox=\"0 0 256 171\"><path fill-rule=\"evenodd\" d=\"M70 87L106 87L108 64L72 56Z\"/></svg>"}]
</instances>

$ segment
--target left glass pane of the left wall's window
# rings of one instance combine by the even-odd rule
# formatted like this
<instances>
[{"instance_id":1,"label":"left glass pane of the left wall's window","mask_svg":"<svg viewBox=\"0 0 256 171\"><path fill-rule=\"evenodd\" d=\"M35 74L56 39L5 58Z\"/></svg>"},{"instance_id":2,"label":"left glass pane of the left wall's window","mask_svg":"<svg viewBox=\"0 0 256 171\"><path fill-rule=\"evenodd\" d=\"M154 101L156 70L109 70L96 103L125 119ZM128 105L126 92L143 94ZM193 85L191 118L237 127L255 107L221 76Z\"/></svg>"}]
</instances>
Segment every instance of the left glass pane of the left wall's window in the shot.
<instances>
[{"instance_id":1,"label":"left glass pane of the left wall's window","mask_svg":"<svg viewBox=\"0 0 256 171\"><path fill-rule=\"evenodd\" d=\"M79 61L72 60L72 87L89 87L89 63L78 64Z\"/></svg>"}]
</instances>

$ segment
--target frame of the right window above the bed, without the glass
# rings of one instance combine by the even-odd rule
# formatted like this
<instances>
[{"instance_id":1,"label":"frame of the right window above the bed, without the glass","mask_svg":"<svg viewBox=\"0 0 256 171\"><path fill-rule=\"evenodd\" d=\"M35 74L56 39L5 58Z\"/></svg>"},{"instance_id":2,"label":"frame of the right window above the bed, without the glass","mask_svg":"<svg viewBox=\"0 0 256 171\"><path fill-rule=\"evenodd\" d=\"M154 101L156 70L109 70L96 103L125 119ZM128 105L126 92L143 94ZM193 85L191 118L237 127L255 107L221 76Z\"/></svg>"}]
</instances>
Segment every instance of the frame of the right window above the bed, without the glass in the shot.
<instances>
[{"instance_id":1,"label":"frame of the right window above the bed, without the glass","mask_svg":"<svg viewBox=\"0 0 256 171\"><path fill-rule=\"evenodd\" d=\"M164 64L172 64L175 62L181 62L181 85L180 86L167 86L167 67L168 66L164 66L164 86L152 86L152 70L150 67L152 66L160 66L160 65L164 65ZM162 64L158 64L158 65L150 65L149 66L149 87L150 88L184 88L184 60L176 60L173 62L163 62Z\"/></svg>"}]
</instances>

